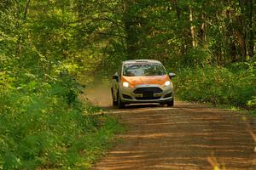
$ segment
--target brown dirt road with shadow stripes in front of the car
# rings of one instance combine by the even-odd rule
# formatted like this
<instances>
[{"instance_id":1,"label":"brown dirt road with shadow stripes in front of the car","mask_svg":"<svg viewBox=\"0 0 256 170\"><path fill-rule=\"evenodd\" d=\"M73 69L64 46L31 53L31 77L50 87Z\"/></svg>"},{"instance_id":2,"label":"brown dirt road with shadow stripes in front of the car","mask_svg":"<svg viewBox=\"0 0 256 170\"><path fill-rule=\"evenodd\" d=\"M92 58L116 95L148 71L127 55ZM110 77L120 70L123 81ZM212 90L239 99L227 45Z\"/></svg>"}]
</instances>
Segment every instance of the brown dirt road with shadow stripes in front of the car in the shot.
<instances>
[{"instance_id":1,"label":"brown dirt road with shadow stripes in front of the car","mask_svg":"<svg viewBox=\"0 0 256 170\"><path fill-rule=\"evenodd\" d=\"M256 169L256 143L247 130L256 132L255 117L245 122L236 112L182 102L108 111L128 132L94 169L213 169L214 161L225 169Z\"/></svg>"}]
</instances>

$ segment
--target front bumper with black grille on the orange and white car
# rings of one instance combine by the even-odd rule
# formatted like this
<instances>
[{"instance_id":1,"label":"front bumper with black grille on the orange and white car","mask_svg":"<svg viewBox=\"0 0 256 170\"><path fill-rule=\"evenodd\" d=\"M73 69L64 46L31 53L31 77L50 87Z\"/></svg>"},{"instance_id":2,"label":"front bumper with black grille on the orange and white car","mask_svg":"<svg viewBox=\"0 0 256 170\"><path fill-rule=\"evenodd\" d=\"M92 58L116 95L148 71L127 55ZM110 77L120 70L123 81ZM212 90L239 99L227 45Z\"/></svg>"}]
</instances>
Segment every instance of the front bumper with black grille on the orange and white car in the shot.
<instances>
[{"instance_id":1,"label":"front bumper with black grille on the orange and white car","mask_svg":"<svg viewBox=\"0 0 256 170\"><path fill-rule=\"evenodd\" d=\"M137 92L142 91L143 92ZM154 89L154 90L151 90ZM156 89L156 90L155 90ZM119 88L120 99L125 104L137 103L160 103L165 104L173 99L173 87L163 87L158 84L154 85L137 85L135 88ZM153 92L154 91L154 92ZM149 96L148 96L149 94Z\"/></svg>"}]
</instances>

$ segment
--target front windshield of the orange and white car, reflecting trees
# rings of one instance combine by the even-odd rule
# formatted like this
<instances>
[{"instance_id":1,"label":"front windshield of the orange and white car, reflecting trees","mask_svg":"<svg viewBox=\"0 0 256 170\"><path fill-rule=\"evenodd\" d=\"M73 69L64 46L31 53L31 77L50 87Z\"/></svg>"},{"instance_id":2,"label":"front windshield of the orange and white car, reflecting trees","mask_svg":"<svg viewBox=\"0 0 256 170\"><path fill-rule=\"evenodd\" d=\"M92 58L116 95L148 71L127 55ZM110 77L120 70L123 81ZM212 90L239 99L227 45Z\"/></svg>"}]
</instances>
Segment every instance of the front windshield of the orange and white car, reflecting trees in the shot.
<instances>
[{"instance_id":1,"label":"front windshield of the orange and white car, reflecting trees","mask_svg":"<svg viewBox=\"0 0 256 170\"><path fill-rule=\"evenodd\" d=\"M125 64L123 75L126 77L142 77L142 76L162 76L166 75L166 70L161 64Z\"/></svg>"}]
</instances>

